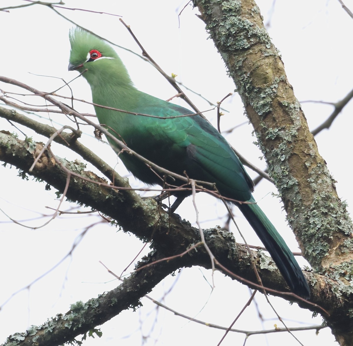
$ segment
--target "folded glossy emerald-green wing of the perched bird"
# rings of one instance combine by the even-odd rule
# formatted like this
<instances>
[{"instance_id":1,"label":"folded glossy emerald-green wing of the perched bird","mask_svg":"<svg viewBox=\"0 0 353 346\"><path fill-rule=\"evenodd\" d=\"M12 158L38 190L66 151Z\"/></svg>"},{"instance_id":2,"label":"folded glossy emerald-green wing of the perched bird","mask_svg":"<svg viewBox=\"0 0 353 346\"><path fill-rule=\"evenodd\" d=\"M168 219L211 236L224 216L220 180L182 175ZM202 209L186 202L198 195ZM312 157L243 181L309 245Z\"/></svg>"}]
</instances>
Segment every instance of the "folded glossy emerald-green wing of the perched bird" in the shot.
<instances>
[{"instance_id":1,"label":"folded glossy emerald-green wing of the perched bird","mask_svg":"<svg viewBox=\"0 0 353 346\"><path fill-rule=\"evenodd\" d=\"M251 178L224 137L199 115L170 118L192 112L148 96L152 99L139 102L140 106L134 111L167 119L143 117L145 147L150 136L153 137L154 145L158 143L158 151L161 152L161 147L165 147L163 163L169 161L170 170L175 167L173 161L182 160L178 157L179 152L183 151L185 157L186 149L186 159L179 163L190 178L215 182L220 193L226 197L241 201L250 199ZM165 164L164 167L168 169ZM179 174L183 172L179 171Z\"/></svg>"}]
</instances>

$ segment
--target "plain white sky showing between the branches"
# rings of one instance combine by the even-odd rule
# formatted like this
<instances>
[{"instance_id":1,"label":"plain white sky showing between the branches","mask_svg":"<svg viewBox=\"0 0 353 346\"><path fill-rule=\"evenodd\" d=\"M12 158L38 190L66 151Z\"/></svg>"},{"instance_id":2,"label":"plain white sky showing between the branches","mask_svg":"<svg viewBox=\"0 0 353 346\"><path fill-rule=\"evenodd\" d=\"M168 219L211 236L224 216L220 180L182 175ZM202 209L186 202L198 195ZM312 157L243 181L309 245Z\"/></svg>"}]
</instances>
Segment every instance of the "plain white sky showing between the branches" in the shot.
<instances>
[{"instance_id":1,"label":"plain white sky showing between the branches","mask_svg":"<svg viewBox=\"0 0 353 346\"><path fill-rule=\"evenodd\" d=\"M24 3L25 1L2 0L0 7ZM235 87L226 75L224 64L213 42L207 40L208 34L204 30L204 23L195 15L198 13L197 10L193 10L190 5L186 6L180 17L179 27L178 13L185 4L185 1L157 0L67 0L65 2L65 6L71 8L84 7L88 10L121 15L148 53L167 74L172 72L177 74L178 81L215 103L229 92L233 92ZM265 23L268 22L272 1L260 0L257 4ZM352 0L346 0L345 4L353 10ZM60 12L83 27L140 54L136 43L119 22L119 17L82 11L61 10ZM352 25L352 18L341 8L337 0L277 1L275 3L274 12L270 18L269 33L282 54L289 82L293 85L299 101L336 102L352 89ZM43 91L54 90L61 86L62 82L59 79L32 74L55 76L64 78L65 81L76 77L76 72L67 71L70 51L68 31L72 26L72 23L59 17L49 8L39 5L13 9L10 13L0 12L2 42L0 74ZM168 99L175 94L169 83L148 63L123 49L116 50L140 90L161 99ZM90 89L83 78L74 81L71 88L74 97L90 100ZM13 90L5 84L0 84L0 89ZM67 88L60 92L70 95ZM199 109L210 108L197 95L190 92L187 94ZM34 98L27 97L25 101L43 104L43 101ZM75 106L82 112L94 112L91 107L83 104L77 103ZM228 98L223 106L229 113L222 117L222 129L247 123L237 94ZM313 103L303 103L302 107L311 129L321 124L333 110L332 106ZM349 205L352 204L352 188L350 174L348 174L351 171L352 108L351 102L336 119L331 129L323 131L316 137L319 151L337 180L337 192L343 200L348 201ZM215 124L216 111L205 115ZM41 116L44 117L41 121L48 123L48 115L43 113ZM38 120L38 117L33 117ZM52 115L51 119L58 124L69 124L63 116ZM0 130L18 132L3 119L0 119L0 125ZM116 164L114 152L92 138L91 128L84 130L86 135L80 141L93 148L114 166ZM32 135L27 129L24 131ZM21 135L20 138L22 138ZM250 125L242 125L227 136L227 139L251 162L262 169L265 167L265 163L259 158L262 156L261 152L252 144L256 139L252 136ZM34 140L47 141L38 135L34 135ZM68 152L60 145L53 145L53 148L58 156L68 159L77 158L76 154ZM90 166L88 167L91 169ZM121 163L116 169L122 175L128 174ZM249 173L252 177L256 177L253 172L249 171ZM45 206L56 208L58 201L55 200L54 189L46 191L43 183L28 183L20 180L16 177L17 171L14 168L5 169L0 166L0 174L4 182L1 187L0 209L18 221L25 220L23 223L30 227L43 224L43 219L28 219L39 217L41 213L50 215L51 211ZM139 186L139 183L132 178L130 182L132 186ZM293 251L297 251L294 236L287 227L285 215L281 211L281 204L277 198L271 196L271 192L276 193L275 188L269 182L262 181L256 187L255 198L260 200L262 209L279 229L287 244ZM221 203L205 194L197 195L197 203L203 227L223 225L226 212ZM65 208L68 207L69 205L66 204ZM241 229L246 231L247 241L250 244L259 245L249 225L238 211L235 212ZM179 207L178 213L182 218L195 222L195 211L191 200L185 200ZM222 219L219 220L219 217ZM31 230L12 224L5 215L0 213L2 263L0 277L3 283L0 290L0 306L13 292L27 286L58 263L70 251L83 227L98 221L100 221L99 218L88 215L61 216L46 227ZM113 278L98 261L101 260L119 275L142 247L134 236L116 231L105 223L92 227L75 249L72 257L67 258L49 275L31 285L29 290L21 291L3 305L0 310L0 342L14 332L24 331L31 324L41 324L56 313L65 313L69 305L77 300L86 301L116 287L118 283L109 282ZM237 234L235 236L240 241L239 236ZM198 319L228 326L250 297L249 290L216 273L216 288L207 301L210 287L203 275L209 281L211 280L209 271L198 268L184 269L180 275L164 280L150 296L186 315L197 315ZM166 295L173 285L172 291ZM234 328L269 329L273 328L274 323L281 327L281 323L276 320L261 294L256 295L256 301L265 321L258 320L255 304L252 304ZM312 319L310 312L300 310L296 305L291 306L284 300L271 298L271 302L282 318L288 321L288 326L322 322L320 317ZM84 345L110 346L117 343L138 345L143 344L142 335L149 336L144 340L144 345L173 346L181 343L191 344L196 340L199 344L216 345L223 334L219 330L188 323L185 319L162 309L156 312L155 306L145 299L143 304L144 307L136 313L125 311L113 318L101 327L103 332L101 339L90 338ZM199 313L204 305L204 309ZM150 332L155 316L158 323ZM315 331L300 332L296 335L304 345L310 345L313 342L323 346L334 344L334 338L328 329L321 331L318 336L315 335ZM156 343L155 340L157 340ZM243 344L243 341L243 335L231 333L222 345ZM273 345L285 342L295 345L295 340L287 333L251 336L246 345L260 343Z\"/></svg>"}]
</instances>

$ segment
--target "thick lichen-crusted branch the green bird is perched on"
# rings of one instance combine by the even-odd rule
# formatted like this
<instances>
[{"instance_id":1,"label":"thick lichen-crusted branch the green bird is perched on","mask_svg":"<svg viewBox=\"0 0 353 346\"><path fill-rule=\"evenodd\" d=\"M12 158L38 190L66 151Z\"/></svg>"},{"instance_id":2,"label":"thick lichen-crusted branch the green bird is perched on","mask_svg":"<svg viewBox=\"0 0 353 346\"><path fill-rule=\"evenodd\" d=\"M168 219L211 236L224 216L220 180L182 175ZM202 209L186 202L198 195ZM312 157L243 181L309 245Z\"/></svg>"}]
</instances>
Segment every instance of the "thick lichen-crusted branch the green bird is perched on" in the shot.
<instances>
[{"instance_id":1,"label":"thick lichen-crusted branch the green bird is perched on","mask_svg":"<svg viewBox=\"0 0 353 346\"><path fill-rule=\"evenodd\" d=\"M0 160L40 178L62 191L66 185L67 174L60 165L56 164L55 159L48 151L44 151L34 170L28 171L42 147L42 143L19 140L8 132L0 131ZM141 199L131 188L127 189L127 184L122 189L110 186L93 172L85 171L83 164L61 158L56 159L60 161L63 168L70 170L74 175L67 191L68 199L100 210L112 217L124 231L131 232L140 239L151 241L152 246L163 252L165 256L178 255L200 241L198 229L191 227L188 222L179 221L179 217L175 214L169 216L168 212L160 209L153 199ZM81 179L76 177L81 177ZM232 233L218 227L203 230L203 232L212 252L217 255L216 258L220 263L240 276L252 273L252 269L247 268L249 258L246 260L247 263L238 263L247 258L246 248L245 246L237 247ZM192 257L197 258L199 261L197 264L210 268L208 254L202 250L202 246L200 247L197 253L203 253L203 257L198 258L195 254ZM244 254L240 254L239 251ZM262 257L256 251L253 254L257 260ZM241 260L238 256L241 256ZM229 260L228 257L232 259ZM202 264L203 259L205 259L205 263ZM266 260L262 260L262 262L262 267L265 268ZM192 263L185 262L184 264L190 265ZM271 263L268 265L270 266ZM277 276L277 272L274 274L272 279L284 282L280 279L280 275ZM254 277L252 273L247 278L252 280ZM270 281L270 278L265 279L266 285L270 284ZM281 286L276 286L276 288L280 289Z\"/></svg>"}]
</instances>

